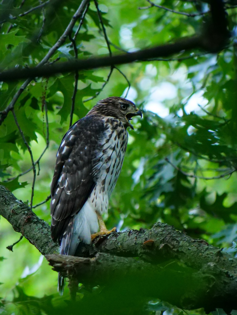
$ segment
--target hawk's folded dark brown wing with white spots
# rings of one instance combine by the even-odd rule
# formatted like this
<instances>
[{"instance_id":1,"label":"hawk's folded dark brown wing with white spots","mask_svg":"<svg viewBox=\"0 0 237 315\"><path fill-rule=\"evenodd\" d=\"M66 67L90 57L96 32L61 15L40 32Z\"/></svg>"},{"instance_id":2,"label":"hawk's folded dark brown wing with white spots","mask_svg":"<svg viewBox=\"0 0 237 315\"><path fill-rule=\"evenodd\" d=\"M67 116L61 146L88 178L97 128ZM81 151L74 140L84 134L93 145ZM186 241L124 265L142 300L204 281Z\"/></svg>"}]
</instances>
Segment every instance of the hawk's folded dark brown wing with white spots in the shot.
<instances>
[{"instance_id":1,"label":"hawk's folded dark brown wing with white spots","mask_svg":"<svg viewBox=\"0 0 237 315\"><path fill-rule=\"evenodd\" d=\"M95 187L93 158L105 131L95 115L78 120L63 137L51 184L51 235L60 241L70 218L83 207Z\"/></svg>"}]
</instances>

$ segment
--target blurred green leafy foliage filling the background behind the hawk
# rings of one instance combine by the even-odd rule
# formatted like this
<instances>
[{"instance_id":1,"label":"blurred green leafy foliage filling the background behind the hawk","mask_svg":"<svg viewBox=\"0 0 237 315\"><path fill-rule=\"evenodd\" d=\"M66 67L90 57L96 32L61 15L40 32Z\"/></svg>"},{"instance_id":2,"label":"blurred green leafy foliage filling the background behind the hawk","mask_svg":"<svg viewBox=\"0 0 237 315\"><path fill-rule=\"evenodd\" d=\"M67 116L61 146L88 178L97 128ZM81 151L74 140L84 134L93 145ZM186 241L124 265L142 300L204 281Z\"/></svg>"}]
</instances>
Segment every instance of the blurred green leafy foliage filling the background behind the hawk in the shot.
<instances>
[{"instance_id":1,"label":"blurred green leafy foliage filling the background behind the hawk","mask_svg":"<svg viewBox=\"0 0 237 315\"><path fill-rule=\"evenodd\" d=\"M42 1L2 1L1 70L36 66L62 35L79 5L77 0L52 1L53 5L49 2L41 9L19 16L39 3ZM99 2L112 53L132 52L191 36L202 27L203 15L199 13L209 9L201 1L159 0L156 3L177 12L197 15L191 17L149 7L145 0L114 0L109 5L104 0ZM161 221L192 237L225 247L235 255L237 9L234 7L237 3L226 1L226 6L230 5L233 8L227 11L232 38L228 47L218 54L197 50L181 52L171 59L119 66L120 72L113 69L107 84L110 69L79 72L73 122L83 117L97 100L113 95L126 96L127 93L127 98L144 112L142 120L134 118L135 130L129 130L123 169L106 218L108 227L118 226L120 230L150 228ZM73 35L79 22L73 28ZM76 37L78 58L108 53L101 30L95 4L91 2ZM72 42L67 38L50 62L70 60L74 56ZM131 85L129 90L127 81ZM14 106L34 161L40 158L36 164L33 205L50 194L55 154L69 128L74 82L73 73L36 78ZM21 84L0 84L0 111L6 108ZM31 200L33 173L26 171L31 167L29 152L9 112L0 126L0 184L27 204ZM49 201L34 211L50 223ZM4 257L0 259L0 313L78 313L77 304L69 302L68 289L62 298L58 296L56 273L37 249L23 239L13 248L13 253L9 252L6 247L17 241L20 234L3 218L0 227L1 256ZM88 292L82 287L78 300L90 301L93 295L98 299L100 290L93 290ZM183 314L182 310L159 300L147 301L142 309L135 307L124 314L163 312ZM195 312L205 314L203 310ZM94 312L97 313L107 314L107 311ZM213 315L217 313L223 314L223 311L217 310Z\"/></svg>"}]
</instances>

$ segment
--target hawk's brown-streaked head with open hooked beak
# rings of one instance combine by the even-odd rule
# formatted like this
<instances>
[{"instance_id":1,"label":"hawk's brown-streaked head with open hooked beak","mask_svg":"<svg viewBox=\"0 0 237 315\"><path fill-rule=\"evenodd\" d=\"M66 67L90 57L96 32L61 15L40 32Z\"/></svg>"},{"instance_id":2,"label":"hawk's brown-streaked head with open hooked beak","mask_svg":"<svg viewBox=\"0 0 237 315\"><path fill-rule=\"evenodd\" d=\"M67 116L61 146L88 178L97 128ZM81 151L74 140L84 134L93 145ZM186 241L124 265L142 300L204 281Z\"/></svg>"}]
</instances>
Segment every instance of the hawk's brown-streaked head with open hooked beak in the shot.
<instances>
[{"instance_id":1,"label":"hawk's brown-streaked head with open hooked beak","mask_svg":"<svg viewBox=\"0 0 237 315\"><path fill-rule=\"evenodd\" d=\"M129 126L131 129L134 129L129 122L132 117L141 116L142 118L142 112L133 102L116 96L98 101L88 114L94 113L118 118L123 122L125 127Z\"/></svg>"}]
</instances>

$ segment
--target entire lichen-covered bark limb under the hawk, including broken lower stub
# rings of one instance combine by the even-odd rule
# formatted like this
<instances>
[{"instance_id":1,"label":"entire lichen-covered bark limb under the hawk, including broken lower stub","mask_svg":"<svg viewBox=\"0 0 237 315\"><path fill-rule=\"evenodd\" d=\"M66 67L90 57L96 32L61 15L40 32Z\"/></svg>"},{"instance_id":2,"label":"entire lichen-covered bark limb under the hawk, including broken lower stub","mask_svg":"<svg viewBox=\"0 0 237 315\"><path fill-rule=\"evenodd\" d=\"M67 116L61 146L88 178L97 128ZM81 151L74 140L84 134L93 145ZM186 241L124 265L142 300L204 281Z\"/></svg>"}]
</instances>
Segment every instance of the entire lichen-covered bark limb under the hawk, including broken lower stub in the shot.
<instances>
[{"instance_id":1,"label":"entire lichen-covered bark limb under the hawk, including broken lower stub","mask_svg":"<svg viewBox=\"0 0 237 315\"><path fill-rule=\"evenodd\" d=\"M96 238L78 249L77 255L86 257L47 255L58 251L49 225L3 186L0 204L0 214L46 255L54 270L76 287L78 282L104 286L112 304L118 292L124 301L133 292L132 305L158 297L185 309L204 307L206 312L237 308L237 260L172 226L156 223L150 230Z\"/></svg>"}]
</instances>

